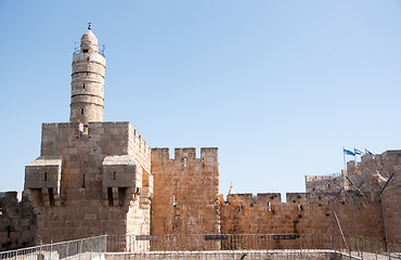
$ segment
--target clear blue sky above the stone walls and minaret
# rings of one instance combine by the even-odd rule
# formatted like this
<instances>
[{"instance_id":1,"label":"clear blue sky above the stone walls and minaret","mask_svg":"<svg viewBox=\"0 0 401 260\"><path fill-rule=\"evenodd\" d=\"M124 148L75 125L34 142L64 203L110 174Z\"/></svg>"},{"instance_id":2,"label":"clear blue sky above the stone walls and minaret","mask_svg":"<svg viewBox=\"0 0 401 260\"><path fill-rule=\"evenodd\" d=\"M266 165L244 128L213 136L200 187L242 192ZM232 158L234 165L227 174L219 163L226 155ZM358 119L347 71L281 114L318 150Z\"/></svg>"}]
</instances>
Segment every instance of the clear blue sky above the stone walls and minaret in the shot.
<instances>
[{"instance_id":1,"label":"clear blue sky above the stone walls and minaret","mask_svg":"<svg viewBox=\"0 0 401 260\"><path fill-rule=\"evenodd\" d=\"M400 1L0 0L0 191L23 190L41 122L68 121L88 22L104 120L153 147L219 147L220 193L302 192L342 146L401 148Z\"/></svg>"}]
</instances>

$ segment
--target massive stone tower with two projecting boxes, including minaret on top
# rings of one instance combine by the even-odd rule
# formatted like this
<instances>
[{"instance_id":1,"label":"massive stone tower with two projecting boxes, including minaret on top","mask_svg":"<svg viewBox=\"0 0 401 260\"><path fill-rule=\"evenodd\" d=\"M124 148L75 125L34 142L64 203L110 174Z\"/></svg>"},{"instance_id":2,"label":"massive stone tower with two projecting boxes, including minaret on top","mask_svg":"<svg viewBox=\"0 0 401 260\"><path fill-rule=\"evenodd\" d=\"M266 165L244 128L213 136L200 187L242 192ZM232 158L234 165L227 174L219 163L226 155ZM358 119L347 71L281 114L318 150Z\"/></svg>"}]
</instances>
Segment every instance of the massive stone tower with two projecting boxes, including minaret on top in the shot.
<instances>
[{"instance_id":1,"label":"massive stone tower with two projecting boxes, including minaret on top","mask_svg":"<svg viewBox=\"0 0 401 260\"><path fill-rule=\"evenodd\" d=\"M103 121L104 72L89 29L73 56L69 122L43 123L40 157L25 167L36 244L150 234L151 147L130 122Z\"/></svg>"}]
</instances>

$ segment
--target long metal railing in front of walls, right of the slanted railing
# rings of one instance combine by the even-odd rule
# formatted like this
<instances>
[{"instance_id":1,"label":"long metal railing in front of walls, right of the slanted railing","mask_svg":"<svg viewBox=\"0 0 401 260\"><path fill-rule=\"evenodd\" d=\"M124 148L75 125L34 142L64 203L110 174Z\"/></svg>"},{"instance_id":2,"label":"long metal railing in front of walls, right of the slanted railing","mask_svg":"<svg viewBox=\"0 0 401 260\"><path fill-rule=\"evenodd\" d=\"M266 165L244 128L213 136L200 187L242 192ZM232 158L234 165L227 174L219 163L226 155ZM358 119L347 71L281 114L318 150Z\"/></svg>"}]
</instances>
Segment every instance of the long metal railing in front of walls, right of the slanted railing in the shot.
<instances>
[{"instance_id":1,"label":"long metal railing in front of walls, right of the slanted railing","mask_svg":"<svg viewBox=\"0 0 401 260\"><path fill-rule=\"evenodd\" d=\"M362 259L363 256L366 258L367 256L388 256L401 259L401 243L386 243L362 236L333 236L331 234L286 236L273 234L107 236L107 252L249 250L297 250L298 252L328 250Z\"/></svg>"}]
</instances>

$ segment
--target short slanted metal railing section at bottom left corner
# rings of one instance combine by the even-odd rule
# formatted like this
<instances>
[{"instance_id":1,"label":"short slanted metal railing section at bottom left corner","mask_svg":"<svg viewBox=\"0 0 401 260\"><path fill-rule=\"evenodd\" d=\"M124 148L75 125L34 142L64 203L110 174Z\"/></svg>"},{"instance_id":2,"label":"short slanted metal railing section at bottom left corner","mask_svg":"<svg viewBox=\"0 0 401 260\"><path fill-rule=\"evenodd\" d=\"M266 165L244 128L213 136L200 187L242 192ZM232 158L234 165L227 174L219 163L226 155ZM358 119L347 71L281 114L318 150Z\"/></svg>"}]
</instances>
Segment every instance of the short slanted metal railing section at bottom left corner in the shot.
<instances>
[{"instance_id":1,"label":"short slanted metal railing section at bottom left corner","mask_svg":"<svg viewBox=\"0 0 401 260\"><path fill-rule=\"evenodd\" d=\"M0 259L55 260L55 259L104 259L106 236L52 243L36 247L0 252Z\"/></svg>"}]
</instances>

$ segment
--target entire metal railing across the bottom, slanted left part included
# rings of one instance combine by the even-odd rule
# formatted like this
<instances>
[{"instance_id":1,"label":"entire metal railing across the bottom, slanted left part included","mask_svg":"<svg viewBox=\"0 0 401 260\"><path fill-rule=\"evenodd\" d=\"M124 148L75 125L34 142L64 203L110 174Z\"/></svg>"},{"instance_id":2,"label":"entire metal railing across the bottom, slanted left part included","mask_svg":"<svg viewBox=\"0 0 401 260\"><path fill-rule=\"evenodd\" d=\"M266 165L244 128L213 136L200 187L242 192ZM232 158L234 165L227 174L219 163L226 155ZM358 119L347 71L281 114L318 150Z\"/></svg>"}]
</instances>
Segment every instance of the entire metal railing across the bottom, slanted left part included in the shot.
<instances>
[{"instance_id":1,"label":"entire metal railing across the bottom, slanted left part included","mask_svg":"<svg viewBox=\"0 0 401 260\"><path fill-rule=\"evenodd\" d=\"M325 235L96 236L0 252L0 259L401 259L401 243ZM128 257L128 258L127 258Z\"/></svg>"}]
</instances>

